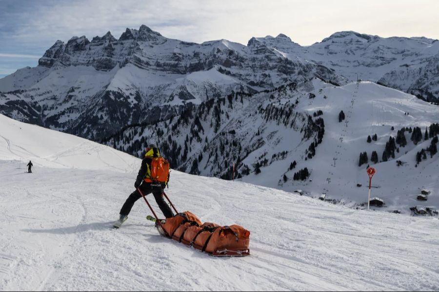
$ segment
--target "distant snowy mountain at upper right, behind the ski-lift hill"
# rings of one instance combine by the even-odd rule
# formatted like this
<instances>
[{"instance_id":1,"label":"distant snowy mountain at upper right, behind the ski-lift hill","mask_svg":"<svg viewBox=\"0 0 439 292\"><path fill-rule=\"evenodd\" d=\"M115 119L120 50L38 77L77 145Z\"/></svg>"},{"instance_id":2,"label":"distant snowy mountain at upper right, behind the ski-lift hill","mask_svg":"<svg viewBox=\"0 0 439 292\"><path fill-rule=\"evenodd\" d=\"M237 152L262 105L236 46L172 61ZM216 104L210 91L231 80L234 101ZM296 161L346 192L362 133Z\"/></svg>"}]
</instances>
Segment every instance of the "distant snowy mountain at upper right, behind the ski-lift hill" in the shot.
<instances>
[{"instance_id":1,"label":"distant snowy mountain at upper right, behind the ski-lift hill","mask_svg":"<svg viewBox=\"0 0 439 292\"><path fill-rule=\"evenodd\" d=\"M422 40L416 37L378 37L358 34L356 32L337 32L311 46L300 46L283 37L259 37L259 42L279 55L292 61L297 59L309 60L311 63L321 64L334 69L338 74L354 81L379 81L389 86L407 91L421 76L428 74L426 63L439 54L439 43L433 40ZM408 70L407 67L413 67ZM398 73L392 79L391 73ZM425 72L427 71L427 72ZM401 74L411 74L408 77ZM387 76L390 74L390 76ZM431 83L431 92L436 85L432 82L434 75L422 80L423 84ZM417 89L417 87L413 87Z\"/></svg>"}]
</instances>

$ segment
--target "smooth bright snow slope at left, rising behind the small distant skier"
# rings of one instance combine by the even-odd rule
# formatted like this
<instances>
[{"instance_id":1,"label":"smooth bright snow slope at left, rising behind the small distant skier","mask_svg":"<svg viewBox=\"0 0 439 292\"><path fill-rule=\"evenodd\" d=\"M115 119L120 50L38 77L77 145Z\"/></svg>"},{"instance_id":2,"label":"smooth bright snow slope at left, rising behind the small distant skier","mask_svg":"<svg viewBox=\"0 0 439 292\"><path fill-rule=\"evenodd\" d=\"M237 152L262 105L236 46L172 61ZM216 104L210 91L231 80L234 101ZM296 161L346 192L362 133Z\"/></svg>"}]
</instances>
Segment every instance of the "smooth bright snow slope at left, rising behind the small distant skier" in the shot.
<instances>
[{"instance_id":1,"label":"smooth bright snow slope at left, rising behind the small distant skier","mask_svg":"<svg viewBox=\"0 0 439 292\"><path fill-rule=\"evenodd\" d=\"M0 160L19 161L17 166L26 170L24 165L29 160L37 169L107 168L132 172L139 167L131 155L74 135L21 123L1 114L0 125Z\"/></svg>"}]
</instances>

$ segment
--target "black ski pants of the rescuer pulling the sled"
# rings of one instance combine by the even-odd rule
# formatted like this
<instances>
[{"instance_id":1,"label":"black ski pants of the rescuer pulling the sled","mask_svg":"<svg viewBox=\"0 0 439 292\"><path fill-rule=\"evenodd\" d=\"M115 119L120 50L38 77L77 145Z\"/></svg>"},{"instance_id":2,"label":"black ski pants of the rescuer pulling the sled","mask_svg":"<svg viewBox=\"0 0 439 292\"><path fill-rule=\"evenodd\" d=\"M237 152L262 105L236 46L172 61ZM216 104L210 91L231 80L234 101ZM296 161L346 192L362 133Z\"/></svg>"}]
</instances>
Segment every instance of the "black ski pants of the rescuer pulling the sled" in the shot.
<instances>
[{"instance_id":1,"label":"black ski pants of the rescuer pulling the sled","mask_svg":"<svg viewBox=\"0 0 439 292\"><path fill-rule=\"evenodd\" d=\"M166 218L174 217L171 208L163 199L163 195L162 195L163 189L160 186L152 187L151 183L143 182L142 184L140 184L139 188L144 196L151 193L154 195L154 198L156 199L156 202L159 205L161 212ZM125 203L123 204L122 209L120 209L119 214L128 216L128 214L130 214L131 212L131 208L133 207L134 203L137 200L139 200L141 197L142 195L140 195L140 192L137 189L134 192L132 192L131 195L128 197L128 199L126 199Z\"/></svg>"}]
</instances>

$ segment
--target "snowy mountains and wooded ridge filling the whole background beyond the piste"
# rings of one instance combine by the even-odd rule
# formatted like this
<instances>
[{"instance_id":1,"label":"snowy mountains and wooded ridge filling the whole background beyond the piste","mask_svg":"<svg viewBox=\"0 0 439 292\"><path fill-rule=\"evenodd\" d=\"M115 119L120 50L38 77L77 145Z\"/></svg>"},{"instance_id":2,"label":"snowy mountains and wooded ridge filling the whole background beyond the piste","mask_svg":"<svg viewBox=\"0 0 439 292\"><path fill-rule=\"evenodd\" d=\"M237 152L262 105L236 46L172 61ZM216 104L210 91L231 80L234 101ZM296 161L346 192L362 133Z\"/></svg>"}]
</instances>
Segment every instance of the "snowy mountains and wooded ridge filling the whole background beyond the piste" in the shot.
<instances>
[{"instance_id":1,"label":"snowy mountains and wooded ridge filling the whole background beyond the piste","mask_svg":"<svg viewBox=\"0 0 439 292\"><path fill-rule=\"evenodd\" d=\"M402 169L395 161L418 170L422 149L436 161L434 137L411 133L436 129L438 60L439 42L425 37L347 31L311 46L283 34L197 44L142 25L119 39L56 41L39 66L0 79L0 112L136 156L156 143L193 174L314 194L347 180L345 193L361 201L352 188L364 183L360 153L377 152L386 173ZM401 131L409 143L390 151Z\"/></svg>"}]
</instances>

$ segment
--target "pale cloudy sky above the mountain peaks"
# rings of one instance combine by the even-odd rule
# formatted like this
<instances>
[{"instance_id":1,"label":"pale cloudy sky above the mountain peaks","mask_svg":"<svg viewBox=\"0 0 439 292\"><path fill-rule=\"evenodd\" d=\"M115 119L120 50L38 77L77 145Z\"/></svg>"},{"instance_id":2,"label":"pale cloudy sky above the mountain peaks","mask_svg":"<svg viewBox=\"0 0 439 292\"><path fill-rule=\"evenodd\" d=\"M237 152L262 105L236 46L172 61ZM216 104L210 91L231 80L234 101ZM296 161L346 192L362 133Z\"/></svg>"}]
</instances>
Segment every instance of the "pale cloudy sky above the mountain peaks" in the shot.
<instances>
[{"instance_id":1,"label":"pale cloudy sky above the mountain peaks","mask_svg":"<svg viewBox=\"0 0 439 292\"><path fill-rule=\"evenodd\" d=\"M439 39L438 0L0 0L0 78L38 65L58 39L119 38L145 24L164 37L247 44L287 35L311 45L339 31Z\"/></svg>"}]
</instances>

